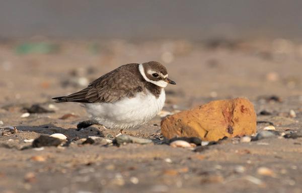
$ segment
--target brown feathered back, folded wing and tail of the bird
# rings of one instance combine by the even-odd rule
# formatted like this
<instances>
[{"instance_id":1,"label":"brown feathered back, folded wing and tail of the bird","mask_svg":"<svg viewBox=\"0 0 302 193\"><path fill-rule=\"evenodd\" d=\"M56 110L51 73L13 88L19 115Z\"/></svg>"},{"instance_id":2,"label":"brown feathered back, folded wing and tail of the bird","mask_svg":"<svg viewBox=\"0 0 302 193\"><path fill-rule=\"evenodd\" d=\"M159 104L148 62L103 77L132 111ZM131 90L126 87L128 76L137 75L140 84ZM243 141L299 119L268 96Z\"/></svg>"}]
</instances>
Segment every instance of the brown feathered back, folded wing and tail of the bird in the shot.
<instances>
[{"instance_id":1,"label":"brown feathered back, folded wing and tail of the bird","mask_svg":"<svg viewBox=\"0 0 302 193\"><path fill-rule=\"evenodd\" d=\"M135 74L137 72L137 64L123 65L96 79L79 92L53 99L57 103L114 103L125 96L131 98L142 91L141 77Z\"/></svg>"}]
</instances>

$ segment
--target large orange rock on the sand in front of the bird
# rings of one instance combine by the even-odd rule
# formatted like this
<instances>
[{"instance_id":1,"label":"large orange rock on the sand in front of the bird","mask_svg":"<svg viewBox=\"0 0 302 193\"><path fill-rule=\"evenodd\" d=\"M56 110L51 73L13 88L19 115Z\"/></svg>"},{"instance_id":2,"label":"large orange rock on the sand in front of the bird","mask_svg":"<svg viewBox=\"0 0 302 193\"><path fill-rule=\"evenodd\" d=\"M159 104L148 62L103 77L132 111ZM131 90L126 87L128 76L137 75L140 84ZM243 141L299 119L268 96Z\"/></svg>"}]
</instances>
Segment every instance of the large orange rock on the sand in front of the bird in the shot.
<instances>
[{"instance_id":1,"label":"large orange rock on the sand in front of the bird","mask_svg":"<svg viewBox=\"0 0 302 193\"><path fill-rule=\"evenodd\" d=\"M199 137L205 141L217 141L225 136L254 134L256 113L248 99L212 101L165 118L161 129L168 139Z\"/></svg>"}]
</instances>

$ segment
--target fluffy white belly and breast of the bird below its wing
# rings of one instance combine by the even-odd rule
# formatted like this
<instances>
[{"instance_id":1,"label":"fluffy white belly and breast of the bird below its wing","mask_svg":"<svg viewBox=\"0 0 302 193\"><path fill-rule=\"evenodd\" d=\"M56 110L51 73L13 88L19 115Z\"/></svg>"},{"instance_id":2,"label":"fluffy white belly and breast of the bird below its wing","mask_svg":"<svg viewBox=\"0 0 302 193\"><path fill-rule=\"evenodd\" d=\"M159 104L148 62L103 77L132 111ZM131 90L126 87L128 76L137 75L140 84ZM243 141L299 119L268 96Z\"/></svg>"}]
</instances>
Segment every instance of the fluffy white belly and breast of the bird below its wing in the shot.
<instances>
[{"instance_id":1,"label":"fluffy white belly and breast of the bird below its wing","mask_svg":"<svg viewBox=\"0 0 302 193\"><path fill-rule=\"evenodd\" d=\"M127 129L145 124L154 118L164 107L165 90L159 98L151 93L138 93L135 98L125 98L114 104L85 104L88 113L106 128Z\"/></svg>"}]
</instances>

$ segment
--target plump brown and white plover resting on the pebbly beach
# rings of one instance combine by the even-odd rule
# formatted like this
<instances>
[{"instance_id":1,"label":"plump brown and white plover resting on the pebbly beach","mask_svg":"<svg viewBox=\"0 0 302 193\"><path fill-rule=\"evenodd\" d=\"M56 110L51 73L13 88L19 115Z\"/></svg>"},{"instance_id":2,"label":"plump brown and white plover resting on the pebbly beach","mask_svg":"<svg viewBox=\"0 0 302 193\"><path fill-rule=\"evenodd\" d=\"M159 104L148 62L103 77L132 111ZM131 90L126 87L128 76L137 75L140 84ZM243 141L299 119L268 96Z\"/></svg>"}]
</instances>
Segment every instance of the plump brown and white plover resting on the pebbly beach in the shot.
<instances>
[{"instance_id":1,"label":"plump brown and white plover resting on the pebbly beach","mask_svg":"<svg viewBox=\"0 0 302 193\"><path fill-rule=\"evenodd\" d=\"M81 103L93 117L90 125L97 123L122 133L140 127L161 112L169 83L176 84L160 62L130 63L102 75L78 92L52 99L56 103Z\"/></svg>"}]
</instances>

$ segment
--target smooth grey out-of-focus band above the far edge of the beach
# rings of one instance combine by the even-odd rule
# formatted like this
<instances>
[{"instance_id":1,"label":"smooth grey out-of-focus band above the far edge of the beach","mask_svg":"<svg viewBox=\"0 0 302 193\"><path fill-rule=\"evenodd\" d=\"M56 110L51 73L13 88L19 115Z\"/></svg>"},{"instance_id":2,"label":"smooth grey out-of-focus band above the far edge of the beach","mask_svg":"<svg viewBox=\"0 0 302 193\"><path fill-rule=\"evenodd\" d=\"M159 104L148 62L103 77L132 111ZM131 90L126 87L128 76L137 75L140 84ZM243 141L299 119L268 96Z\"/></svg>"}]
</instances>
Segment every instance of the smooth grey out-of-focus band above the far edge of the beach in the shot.
<instances>
[{"instance_id":1,"label":"smooth grey out-of-focus band above the far edge of the beach","mask_svg":"<svg viewBox=\"0 0 302 193\"><path fill-rule=\"evenodd\" d=\"M3 37L299 38L298 0L2 1Z\"/></svg>"}]
</instances>

